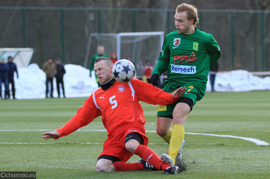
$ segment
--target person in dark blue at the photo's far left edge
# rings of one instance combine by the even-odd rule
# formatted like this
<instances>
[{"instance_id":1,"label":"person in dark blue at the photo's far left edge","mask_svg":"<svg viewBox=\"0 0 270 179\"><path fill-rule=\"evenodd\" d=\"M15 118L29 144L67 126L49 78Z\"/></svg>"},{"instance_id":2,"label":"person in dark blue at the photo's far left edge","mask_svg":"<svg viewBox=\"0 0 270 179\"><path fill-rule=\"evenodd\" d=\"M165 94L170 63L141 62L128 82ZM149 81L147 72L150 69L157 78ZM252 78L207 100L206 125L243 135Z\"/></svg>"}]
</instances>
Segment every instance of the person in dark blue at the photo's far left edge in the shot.
<instances>
[{"instance_id":1,"label":"person in dark blue at the photo's far left edge","mask_svg":"<svg viewBox=\"0 0 270 179\"><path fill-rule=\"evenodd\" d=\"M7 71L8 71L8 66L5 64L5 59L4 57L1 58L0 60L0 98L2 99L7 99L8 95L8 76L7 76ZM2 97L2 83L4 83L5 87L5 92L4 92L4 97Z\"/></svg>"}]
</instances>

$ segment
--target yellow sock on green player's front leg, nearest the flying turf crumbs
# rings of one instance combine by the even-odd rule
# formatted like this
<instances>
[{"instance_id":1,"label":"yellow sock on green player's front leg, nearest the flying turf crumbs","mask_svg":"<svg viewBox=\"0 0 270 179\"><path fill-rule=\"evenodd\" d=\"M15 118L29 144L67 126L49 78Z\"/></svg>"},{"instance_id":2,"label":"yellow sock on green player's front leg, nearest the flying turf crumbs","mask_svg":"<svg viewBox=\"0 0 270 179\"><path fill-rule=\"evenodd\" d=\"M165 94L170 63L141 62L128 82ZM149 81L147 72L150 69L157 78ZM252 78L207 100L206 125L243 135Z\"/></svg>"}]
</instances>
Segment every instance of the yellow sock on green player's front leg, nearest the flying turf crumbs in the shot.
<instances>
[{"instance_id":1,"label":"yellow sock on green player's front leg, nearest the flying turf crumbs","mask_svg":"<svg viewBox=\"0 0 270 179\"><path fill-rule=\"evenodd\" d=\"M175 163L175 158L184 140L184 135L185 135L184 126L179 125L179 124L173 125L173 133L172 133L172 137L170 140L170 147L169 147L169 156L173 159L173 163Z\"/></svg>"}]
</instances>

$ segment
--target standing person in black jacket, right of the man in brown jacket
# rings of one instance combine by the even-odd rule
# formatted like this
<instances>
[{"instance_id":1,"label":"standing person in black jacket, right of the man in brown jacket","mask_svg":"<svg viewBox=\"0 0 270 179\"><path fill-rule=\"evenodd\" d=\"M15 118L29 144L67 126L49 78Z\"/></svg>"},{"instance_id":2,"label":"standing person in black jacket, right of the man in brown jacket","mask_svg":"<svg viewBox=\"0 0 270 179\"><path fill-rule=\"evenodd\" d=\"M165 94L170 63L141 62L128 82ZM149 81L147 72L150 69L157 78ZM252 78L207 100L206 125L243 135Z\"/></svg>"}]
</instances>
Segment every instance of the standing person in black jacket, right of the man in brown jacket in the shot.
<instances>
[{"instance_id":1,"label":"standing person in black jacket, right of the man in brown jacket","mask_svg":"<svg viewBox=\"0 0 270 179\"><path fill-rule=\"evenodd\" d=\"M64 64L61 63L61 60L59 58L57 58L55 60L55 65L56 65L56 69L57 69L55 79L56 79L56 87L57 87L57 92L58 92L58 98L60 98L60 86L59 86L60 83L61 83L61 86L62 86L63 96L65 98L65 89L64 89L63 77L64 77L64 74L66 73L66 70L64 68Z\"/></svg>"}]
</instances>

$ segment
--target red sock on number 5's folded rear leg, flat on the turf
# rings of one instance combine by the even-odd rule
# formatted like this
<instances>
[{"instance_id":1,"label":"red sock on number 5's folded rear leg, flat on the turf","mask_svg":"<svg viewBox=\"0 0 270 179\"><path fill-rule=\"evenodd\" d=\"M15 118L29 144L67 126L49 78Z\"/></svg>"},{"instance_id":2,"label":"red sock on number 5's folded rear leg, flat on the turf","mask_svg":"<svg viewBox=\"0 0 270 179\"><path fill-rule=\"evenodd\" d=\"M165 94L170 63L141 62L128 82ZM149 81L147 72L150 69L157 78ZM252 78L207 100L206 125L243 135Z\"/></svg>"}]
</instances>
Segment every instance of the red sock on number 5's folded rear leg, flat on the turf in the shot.
<instances>
[{"instance_id":1,"label":"red sock on number 5's folded rear leg, flat on the turf","mask_svg":"<svg viewBox=\"0 0 270 179\"><path fill-rule=\"evenodd\" d=\"M131 171L131 170L145 170L142 163L125 163L117 161L113 163L116 172Z\"/></svg>"}]
</instances>

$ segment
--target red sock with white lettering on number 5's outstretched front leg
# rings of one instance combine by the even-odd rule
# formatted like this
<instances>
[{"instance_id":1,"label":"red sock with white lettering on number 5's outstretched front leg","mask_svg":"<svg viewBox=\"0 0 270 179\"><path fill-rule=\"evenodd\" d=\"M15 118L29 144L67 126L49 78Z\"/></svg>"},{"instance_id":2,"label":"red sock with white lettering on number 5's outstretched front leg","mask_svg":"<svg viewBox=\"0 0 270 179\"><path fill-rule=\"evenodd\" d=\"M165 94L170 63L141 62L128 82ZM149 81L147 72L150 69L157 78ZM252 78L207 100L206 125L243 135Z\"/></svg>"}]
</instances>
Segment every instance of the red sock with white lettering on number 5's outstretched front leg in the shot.
<instances>
[{"instance_id":1,"label":"red sock with white lettering on number 5's outstretched front leg","mask_svg":"<svg viewBox=\"0 0 270 179\"><path fill-rule=\"evenodd\" d=\"M159 170L167 169L168 164L161 161L160 157L150 148L144 145L139 145L135 152L136 155L143 158L146 162Z\"/></svg>"}]
</instances>

